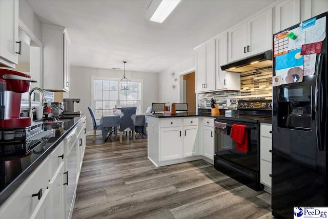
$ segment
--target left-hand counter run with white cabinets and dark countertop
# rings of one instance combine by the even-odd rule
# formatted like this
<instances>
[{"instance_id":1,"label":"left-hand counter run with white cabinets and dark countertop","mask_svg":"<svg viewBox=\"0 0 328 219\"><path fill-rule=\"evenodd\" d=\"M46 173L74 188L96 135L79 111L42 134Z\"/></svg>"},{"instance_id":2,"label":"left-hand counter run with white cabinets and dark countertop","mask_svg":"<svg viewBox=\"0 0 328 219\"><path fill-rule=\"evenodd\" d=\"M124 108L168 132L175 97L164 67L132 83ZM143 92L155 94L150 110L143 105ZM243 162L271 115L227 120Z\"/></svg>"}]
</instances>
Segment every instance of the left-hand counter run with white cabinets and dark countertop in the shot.
<instances>
[{"instance_id":1,"label":"left-hand counter run with white cabinets and dark countertop","mask_svg":"<svg viewBox=\"0 0 328 219\"><path fill-rule=\"evenodd\" d=\"M69 218L86 146L85 128L84 114L45 122L44 131L34 136L40 144L27 154L0 158L0 218Z\"/></svg>"}]
</instances>

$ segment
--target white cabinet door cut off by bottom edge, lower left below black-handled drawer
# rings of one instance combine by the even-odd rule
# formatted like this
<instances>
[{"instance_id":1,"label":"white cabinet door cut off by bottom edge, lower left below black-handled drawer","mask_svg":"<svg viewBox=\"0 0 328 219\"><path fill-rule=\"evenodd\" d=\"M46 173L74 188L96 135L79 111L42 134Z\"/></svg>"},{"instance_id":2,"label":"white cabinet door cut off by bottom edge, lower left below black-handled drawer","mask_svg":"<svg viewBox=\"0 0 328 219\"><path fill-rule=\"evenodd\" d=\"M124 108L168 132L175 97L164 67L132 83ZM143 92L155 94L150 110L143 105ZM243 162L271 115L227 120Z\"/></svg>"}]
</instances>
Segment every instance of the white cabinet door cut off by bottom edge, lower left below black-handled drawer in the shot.
<instances>
[{"instance_id":1,"label":"white cabinet door cut off by bottom edge, lower left below black-handled drawer","mask_svg":"<svg viewBox=\"0 0 328 219\"><path fill-rule=\"evenodd\" d=\"M51 219L51 211L50 189L46 189L30 219Z\"/></svg>"}]
</instances>

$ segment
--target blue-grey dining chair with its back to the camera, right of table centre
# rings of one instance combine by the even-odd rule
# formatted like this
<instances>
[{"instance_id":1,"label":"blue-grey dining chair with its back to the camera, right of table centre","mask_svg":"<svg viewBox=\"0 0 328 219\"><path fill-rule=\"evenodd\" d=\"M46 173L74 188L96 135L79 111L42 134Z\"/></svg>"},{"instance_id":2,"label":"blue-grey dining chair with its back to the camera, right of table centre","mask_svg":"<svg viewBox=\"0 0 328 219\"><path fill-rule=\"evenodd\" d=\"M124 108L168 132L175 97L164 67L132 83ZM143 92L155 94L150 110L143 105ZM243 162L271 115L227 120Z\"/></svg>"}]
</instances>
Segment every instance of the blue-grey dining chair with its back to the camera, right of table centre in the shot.
<instances>
[{"instance_id":1,"label":"blue-grey dining chair with its back to the camera, right of table centre","mask_svg":"<svg viewBox=\"0 0 328 219\"><path fill-rule=\"evenodd\" d=\"M122 143L122 134L125 131L133 131L133 141L135 141L135 113L136 107L122 107L119 122L119 143Z\"/></svg>"}]
</instances>

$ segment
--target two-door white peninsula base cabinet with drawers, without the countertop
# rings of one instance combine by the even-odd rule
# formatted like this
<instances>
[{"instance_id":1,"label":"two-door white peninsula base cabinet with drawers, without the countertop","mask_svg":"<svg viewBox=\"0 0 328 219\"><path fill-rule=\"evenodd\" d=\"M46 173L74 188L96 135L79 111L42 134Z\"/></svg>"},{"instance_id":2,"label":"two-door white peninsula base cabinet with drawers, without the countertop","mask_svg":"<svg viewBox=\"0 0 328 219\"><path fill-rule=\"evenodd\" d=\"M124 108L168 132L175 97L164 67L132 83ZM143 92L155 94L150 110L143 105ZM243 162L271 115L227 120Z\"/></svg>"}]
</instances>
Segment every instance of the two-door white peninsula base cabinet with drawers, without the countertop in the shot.
<instances>
[{"instance_id":1,"label":"two-door white peninsula base cabinet with drawers, without the countertop","mask_svg":"<svg viewBox=\"0 0 328 219\"><path fill-rule=\"evenodd\" d=\"M148 158L156 166L197 160L197 155L200 155L198 117L149 116L148 132Z\"/></svg>"}]
</instances>

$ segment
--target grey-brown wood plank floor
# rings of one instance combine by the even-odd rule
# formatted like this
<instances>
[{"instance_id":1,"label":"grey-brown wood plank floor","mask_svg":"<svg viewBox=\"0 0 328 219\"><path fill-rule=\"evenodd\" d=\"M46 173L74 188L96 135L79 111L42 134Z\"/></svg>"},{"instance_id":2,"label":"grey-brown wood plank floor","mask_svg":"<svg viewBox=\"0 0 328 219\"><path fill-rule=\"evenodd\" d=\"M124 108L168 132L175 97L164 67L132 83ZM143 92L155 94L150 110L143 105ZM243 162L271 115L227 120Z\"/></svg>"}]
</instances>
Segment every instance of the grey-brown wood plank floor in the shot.
<instances>
[{"instance_id":1,"label":"grey-brown wood plank floor","mask_svg":"<svg viewBox=\"0 0 328 219\"><path fill-rule=\"evenodd\" d=\"M72 218L273 218L270 203L202 160L155 167L147 138L87 136Z\"/></svg>"}]
</instances>

